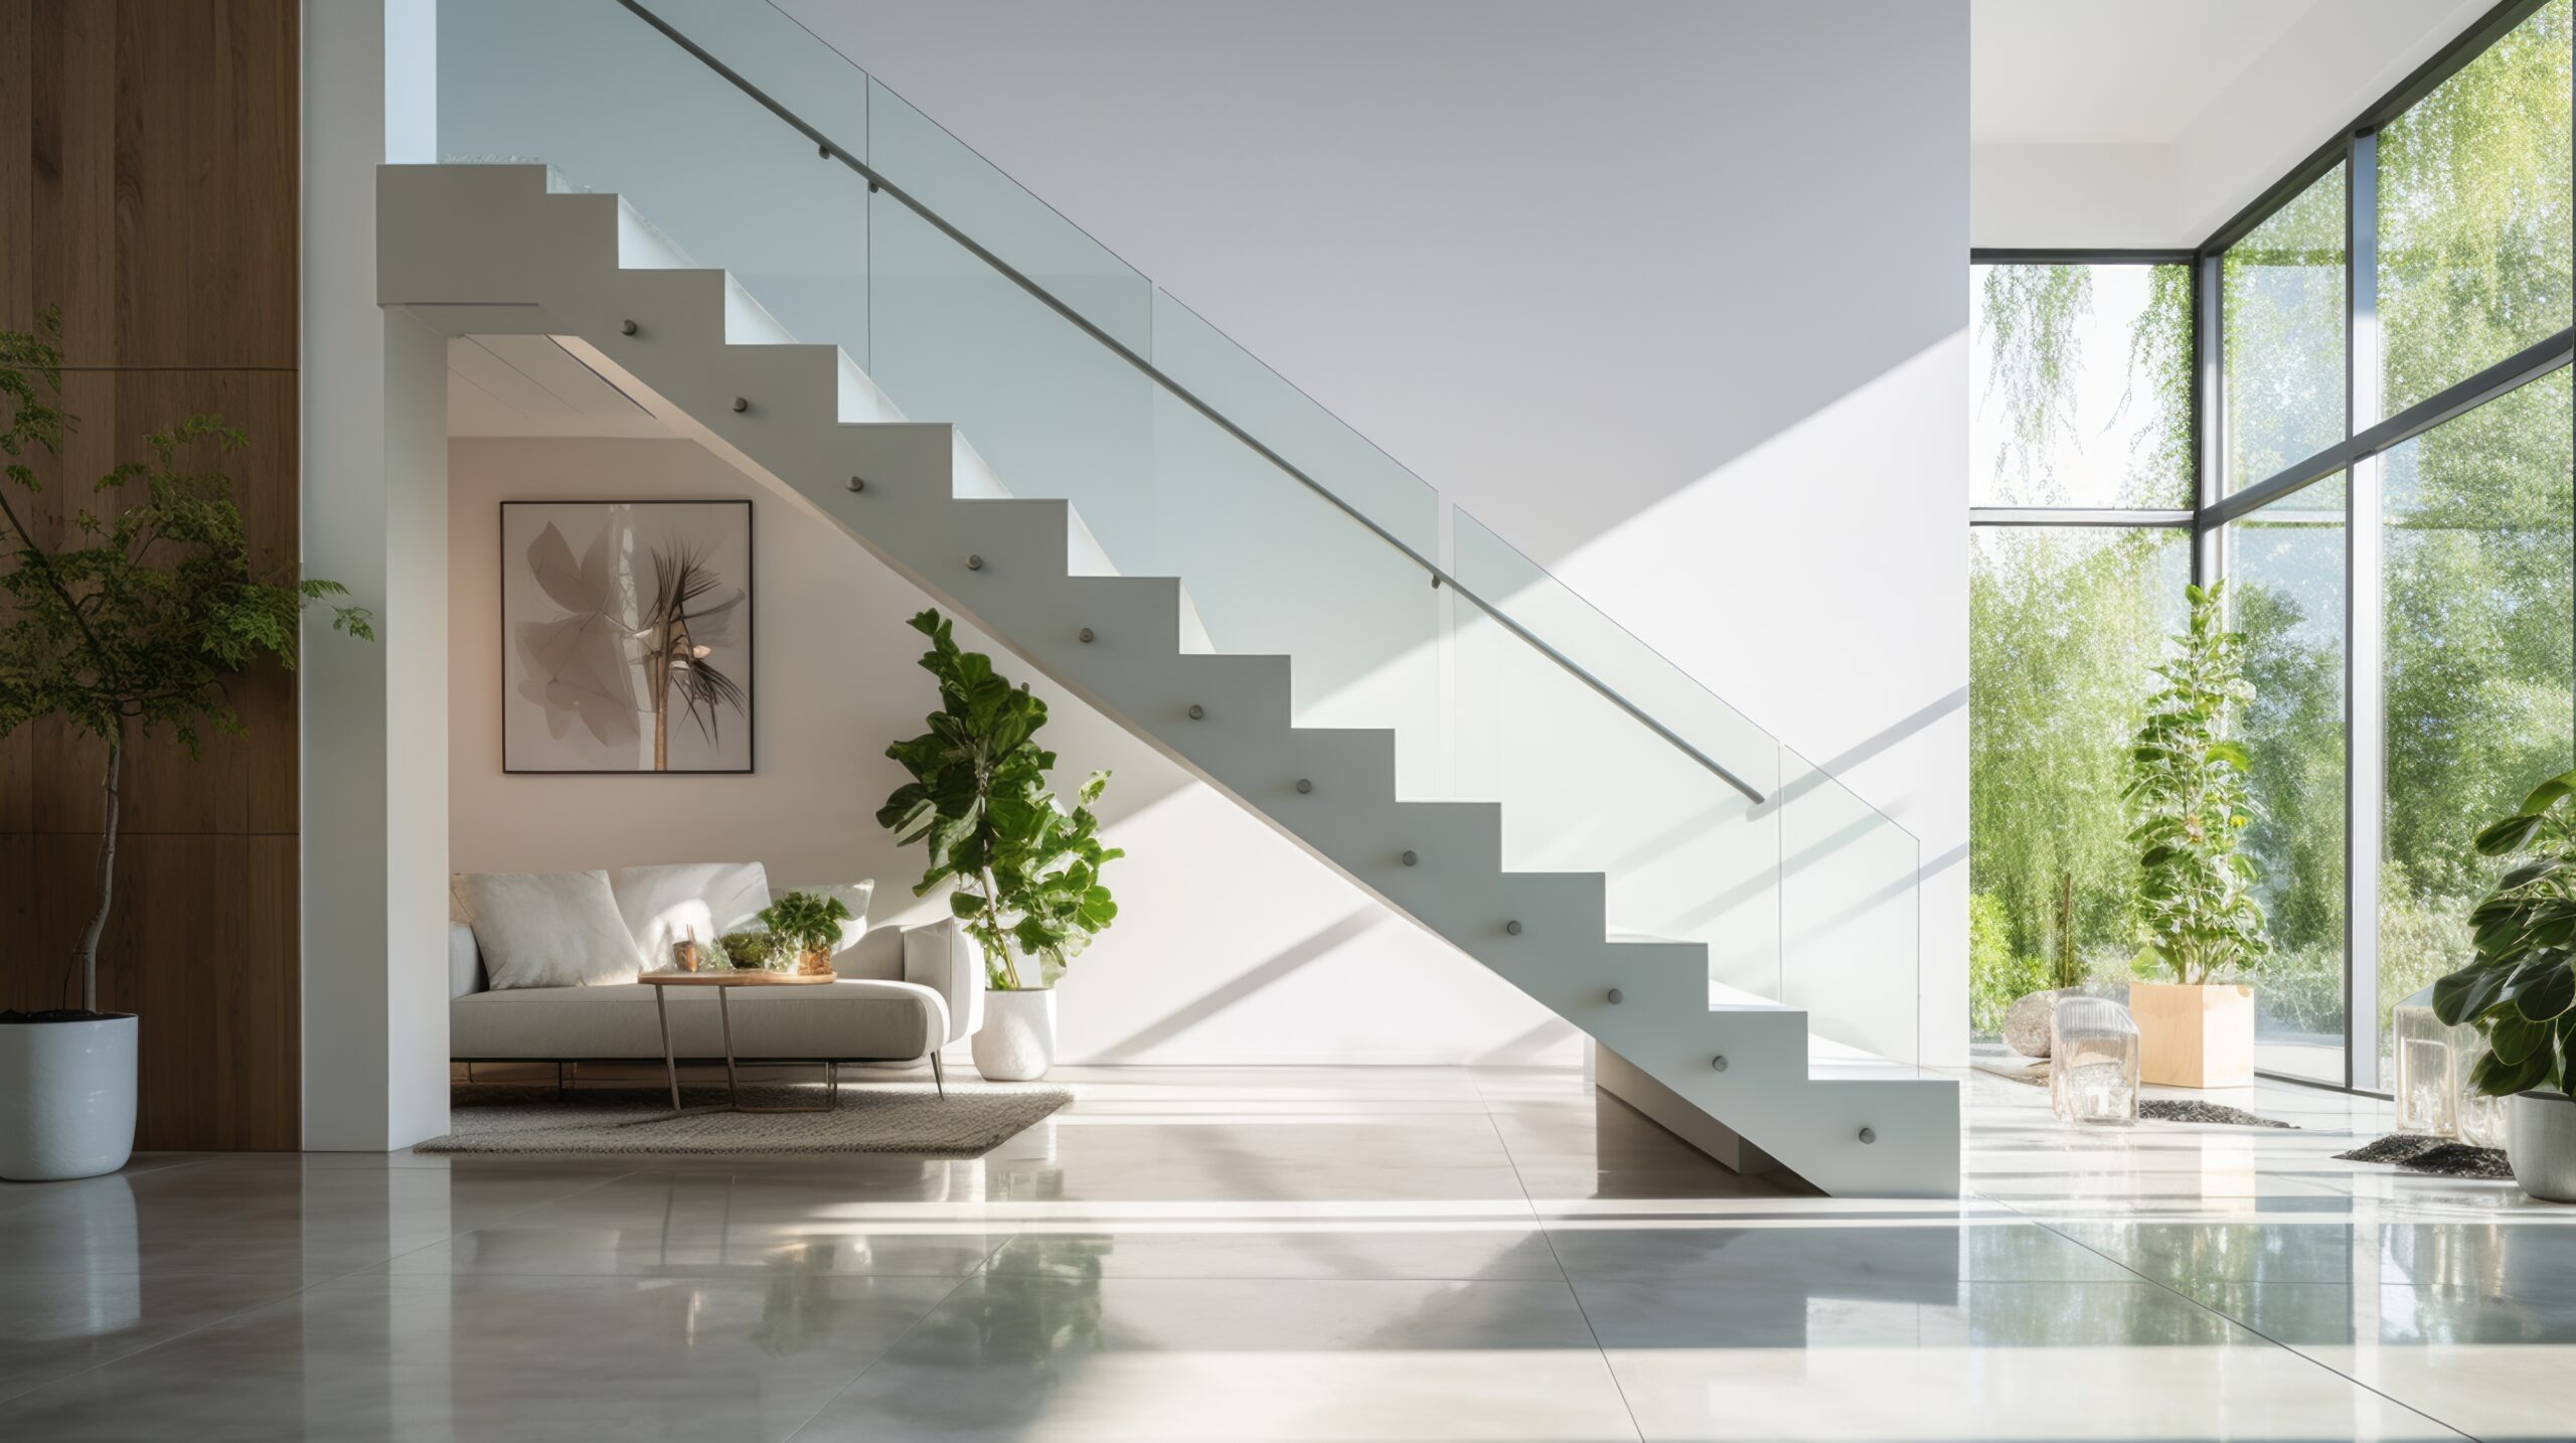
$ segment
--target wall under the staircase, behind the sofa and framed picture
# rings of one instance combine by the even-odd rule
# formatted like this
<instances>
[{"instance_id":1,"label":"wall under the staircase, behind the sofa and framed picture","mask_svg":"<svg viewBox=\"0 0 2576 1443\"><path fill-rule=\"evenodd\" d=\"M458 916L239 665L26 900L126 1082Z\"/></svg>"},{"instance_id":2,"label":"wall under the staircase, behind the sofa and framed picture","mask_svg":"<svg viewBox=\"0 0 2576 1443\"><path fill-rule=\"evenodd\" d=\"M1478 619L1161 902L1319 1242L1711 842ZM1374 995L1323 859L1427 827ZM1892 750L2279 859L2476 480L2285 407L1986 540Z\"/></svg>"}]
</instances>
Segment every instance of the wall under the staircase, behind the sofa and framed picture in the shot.
<instances>
[{"instance_id":1,"label":"wall under the staircase, behind the sofa and framed picture","mask_svg":"<svg viewBox=\"0 0 2576 1443\"><path fill-rule=\"evenodd\" d=\"M871 922L917 902L920 853L876 807L904 781L886 742L922 729L925 606L850 539L690 441L448 448L448 855L459 871L757 858L773 884L876 879ZM500 502L755 500L752 776L502 776ZM961 644L994 652L961 631ZM1010 665L1005 660L1005 665ZM1046 680L1061 773L1115 776L1100 814L1121 920L1061 989L1064 1062L1577 1062L1574 1031Z\"/></svg>"}]
</instances>

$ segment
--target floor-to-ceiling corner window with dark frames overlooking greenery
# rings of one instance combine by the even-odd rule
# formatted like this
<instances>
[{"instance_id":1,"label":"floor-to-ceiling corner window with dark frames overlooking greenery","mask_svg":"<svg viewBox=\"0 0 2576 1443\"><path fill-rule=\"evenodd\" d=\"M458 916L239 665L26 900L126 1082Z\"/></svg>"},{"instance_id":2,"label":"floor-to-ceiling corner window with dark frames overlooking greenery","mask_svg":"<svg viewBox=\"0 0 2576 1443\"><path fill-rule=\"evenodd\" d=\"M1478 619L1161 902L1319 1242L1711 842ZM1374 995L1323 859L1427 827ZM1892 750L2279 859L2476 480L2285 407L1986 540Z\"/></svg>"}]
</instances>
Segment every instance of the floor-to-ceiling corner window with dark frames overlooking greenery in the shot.
<instances>
[{"instance_id":1,"label":"floor-to-ceiling corner window with dark frames overlooking greenery","mask_svg":"<svg viewBox=\"0 0 2576 1443\"><path fill-rule=\"evenodd\" d=\"M2512 0L2190 253L1971 268L1971 1026L2136 951L2120 763L2249 636L2259 1067L2380 1087L2470 832L2576 763L2576 0Z\"/></svg>"}]
</instances>

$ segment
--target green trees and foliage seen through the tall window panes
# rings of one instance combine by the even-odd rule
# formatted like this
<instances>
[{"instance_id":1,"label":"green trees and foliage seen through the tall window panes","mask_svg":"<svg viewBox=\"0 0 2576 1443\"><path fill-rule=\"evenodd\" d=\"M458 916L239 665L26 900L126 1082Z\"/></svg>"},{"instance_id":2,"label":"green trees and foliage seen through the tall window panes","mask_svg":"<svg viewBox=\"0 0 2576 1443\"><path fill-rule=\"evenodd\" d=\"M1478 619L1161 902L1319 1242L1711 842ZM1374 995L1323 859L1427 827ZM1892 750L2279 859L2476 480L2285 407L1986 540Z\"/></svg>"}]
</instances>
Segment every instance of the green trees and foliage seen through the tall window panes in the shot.
<instances>
[{"instance_id":1,"label":"green trees and foliage seen through the tall window panes","mask_svg":"<svg viewBox=\"0 0 2576 1443\"><path fill-rule=\"evenodd\" d=\"M2571 0L2550 0L2380 131L2388 407L2571 320ZM2342 178L2262 227L2231 265L2246 283L2223 296L2226 451L2241 477L2259 479L2342 435ZM2117 345L2099 335L2084 271L1981 268L1989 374L1978 384L2030 415L2009 428L2014 446L2030 438L2027 451L2004 456L1996 474L2032 474L1999 500L2048 505L2053 487L2066 490L2045 477L2056 441L2038 438L2066 435L2069 387L2087 366L2130 366L2130 392L2172 384L2187 394L2187 371L2154 371L2159 381L2136 361L2161 353L2159 338L2187 327L2187 309L2151 307ZM2468 956L2468 910L2501 866L2473 845L2478 822L2576 765L2571 410L2561 368L2383 461L2380 1038L2391 1005ZM2303 430L2313 415L2331 415L2324 441ZM2164 451L2177 459L2172 474L2159 482L2156 448L2141 446L2115 505L2177 505L2151 497L2190 492L2187 428L2169 441L2179 441ZM2342 482L2326 479L2228 528L2228 621L2246 634L2254 688L2239 727L2257 804L2246 853L2262 868L2272 943L2254 982L2272 1036L2342 1033ZM2007 977L2053 974L2061 933L2097 977L2125 951L2133 868L2115 807L2120 737L2141 719L2154 685L2146 667L2161 655L2187 564L2166 531L1973 536L1968 871L2009 935L2009 948L1971 938L1973 997L2002 992ZM2061 925L2069 876L2076 897ZM1996 1018L1973 1002L1978 1031Z\"/></svg>"}]
</instances>

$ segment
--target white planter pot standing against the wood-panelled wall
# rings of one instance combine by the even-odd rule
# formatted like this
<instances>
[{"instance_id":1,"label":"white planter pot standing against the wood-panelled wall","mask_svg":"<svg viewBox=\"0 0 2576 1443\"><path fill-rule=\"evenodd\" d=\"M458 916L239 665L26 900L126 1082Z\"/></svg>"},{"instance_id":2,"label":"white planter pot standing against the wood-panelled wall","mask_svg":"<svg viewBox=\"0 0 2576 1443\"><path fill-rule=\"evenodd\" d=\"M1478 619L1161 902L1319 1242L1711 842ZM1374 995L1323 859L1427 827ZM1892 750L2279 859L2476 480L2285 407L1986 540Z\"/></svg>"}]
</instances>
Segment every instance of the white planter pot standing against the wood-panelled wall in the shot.
<instances>
[{"instance_id":1,"label":"white planter pot standing against the wood-panelled wall","mask_svg":"<svg viewBox=\"0 0 2576 1443\"><path fill-rule=\"evenodd\" d=\"M0 1178L95 1178L126 1157L134 1157L134 1015L0 1023Z\"/></svg>"}]
</instances>

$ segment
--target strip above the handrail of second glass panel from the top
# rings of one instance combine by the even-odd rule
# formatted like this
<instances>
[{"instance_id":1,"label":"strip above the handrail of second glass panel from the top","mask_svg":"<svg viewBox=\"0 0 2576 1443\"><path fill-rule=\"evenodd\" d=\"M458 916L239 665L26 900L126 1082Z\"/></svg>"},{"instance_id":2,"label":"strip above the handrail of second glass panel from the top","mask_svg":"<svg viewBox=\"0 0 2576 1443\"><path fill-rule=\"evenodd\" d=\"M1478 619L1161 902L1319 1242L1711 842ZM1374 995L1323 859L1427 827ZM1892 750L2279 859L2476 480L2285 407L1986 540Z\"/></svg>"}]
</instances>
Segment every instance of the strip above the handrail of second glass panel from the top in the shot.
<instances>
[{"instance_id":1,"label":"strip above the handrail of second glass panel from the top","mask_svg":"<svg viewBox=\"0 0 2576 1443\"><path fill-rule=\"evenodd\" d=\"M1151 356L1154 286L873 77L868 167L1128 350Z\"/></svg>"}]
</instances>

